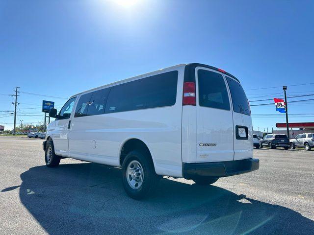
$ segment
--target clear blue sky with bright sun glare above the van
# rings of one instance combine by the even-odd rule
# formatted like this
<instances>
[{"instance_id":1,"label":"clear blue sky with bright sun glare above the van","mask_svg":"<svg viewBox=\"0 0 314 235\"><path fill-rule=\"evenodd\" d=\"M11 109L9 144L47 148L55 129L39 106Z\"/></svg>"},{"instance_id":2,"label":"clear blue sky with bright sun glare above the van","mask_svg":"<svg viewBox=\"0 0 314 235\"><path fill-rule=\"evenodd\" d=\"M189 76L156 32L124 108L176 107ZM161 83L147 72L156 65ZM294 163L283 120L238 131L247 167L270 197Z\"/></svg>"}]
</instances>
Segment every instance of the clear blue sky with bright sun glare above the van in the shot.
<instances>
[{"instance_id":1,"label":"clear blue sky with bright sun glare above the van","mask_svg":"<svg viewBox=\"0 0 314 235\"><path fill-rule=\"evenodd\" d=\"M122 2L122 3L121 3ZM83 90L181 63L198 62L238 77L245 90L314 83L314 1L1 0L1 94L20 91L69 97ZM282 89L246 91L250 100L281 97ZM314 94L314 84L288 95ZM255 98L256 97L256 98ZM310 99L314 96L291 98ZM43 99L20 94L19 117L42 121ZM0 111L13 110L0 95ZM251 104L273 102L262 101ZM291 114L313 114L314 101ZM254 129L285 122L274 105L252 107ZM41 115L41 116L21 116ZM290 121L313 121L295 116ZM12 123L13 116L0 124ZM12 124L4 124L12 128Z\"/></svg>"}]
</instances>

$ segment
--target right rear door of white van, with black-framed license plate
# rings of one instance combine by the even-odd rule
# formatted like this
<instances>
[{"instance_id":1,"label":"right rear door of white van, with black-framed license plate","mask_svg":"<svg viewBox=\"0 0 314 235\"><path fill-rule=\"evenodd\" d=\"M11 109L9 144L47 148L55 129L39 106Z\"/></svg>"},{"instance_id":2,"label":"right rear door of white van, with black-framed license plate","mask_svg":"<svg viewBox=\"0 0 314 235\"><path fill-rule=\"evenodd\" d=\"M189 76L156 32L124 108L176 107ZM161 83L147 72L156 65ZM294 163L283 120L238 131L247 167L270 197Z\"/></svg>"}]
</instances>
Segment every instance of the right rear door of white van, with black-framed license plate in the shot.
<instances>
[{"instance_id":1,"label":"right rear door of white van, with black-framed license plate","mask_svg":"<svg viewBox=\"0 0 314 235\"><path fill-rule=\"evenodd\" d=\"M249 102L241 84L225 75L229 86L234 118L235 158L253 158L253 127Z\"/></svg>"}]
</instances>

